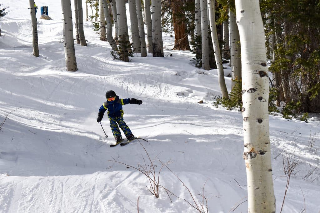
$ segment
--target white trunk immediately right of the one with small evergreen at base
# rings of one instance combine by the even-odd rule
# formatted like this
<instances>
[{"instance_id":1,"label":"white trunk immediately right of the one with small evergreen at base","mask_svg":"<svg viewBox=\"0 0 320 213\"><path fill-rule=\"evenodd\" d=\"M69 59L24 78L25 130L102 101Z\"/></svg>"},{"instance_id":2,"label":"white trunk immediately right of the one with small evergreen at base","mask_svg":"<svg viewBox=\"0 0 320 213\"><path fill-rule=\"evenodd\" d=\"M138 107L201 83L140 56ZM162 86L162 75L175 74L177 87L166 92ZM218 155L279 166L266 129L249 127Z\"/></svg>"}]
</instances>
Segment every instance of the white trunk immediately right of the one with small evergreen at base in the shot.
<instances>
[{"instance_id":1,"label":"white trunk immediately right of the one with small evergreen at base","mask_svg":"<svg viewBox=\"0 0 320 213\"><path fill-rule=\"evenodd\" d=\"M135 49L134 52L141 53L136 0L128 0L128 3L129 3L132 46Z\"/></svg>"}]
</instances>

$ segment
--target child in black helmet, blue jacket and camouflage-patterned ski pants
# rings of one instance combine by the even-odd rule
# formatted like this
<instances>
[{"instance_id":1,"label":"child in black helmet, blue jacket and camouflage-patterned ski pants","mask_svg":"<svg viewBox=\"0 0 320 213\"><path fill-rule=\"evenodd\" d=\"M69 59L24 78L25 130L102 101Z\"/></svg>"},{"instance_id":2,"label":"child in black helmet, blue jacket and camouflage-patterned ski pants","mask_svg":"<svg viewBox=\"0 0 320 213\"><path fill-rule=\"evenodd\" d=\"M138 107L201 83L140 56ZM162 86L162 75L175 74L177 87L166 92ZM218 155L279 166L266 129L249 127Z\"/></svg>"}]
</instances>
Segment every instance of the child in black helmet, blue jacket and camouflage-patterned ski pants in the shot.
<instances>
[{"instance_id":1,"label":"child in black helmet, blue jacket and camouflage-patterned ski pants","mask_svg":"<svg viewBox=\"0 0 320 213\"><path fill-rule=\"evenodd\" d=\"M109 90L106 93L106 98L107 98L107 101L103 103L99 109L97 122L99 123L102 120L103 114L105 113L105 111L108 110L107 113L108 113L108 118L110 120L110 127L111 127L112 134L116 139L116 143L120 143L121 141L123 141L119 127L124 132L125 137L127 138L128 141L133 140L135 137L133 136L130 128L127 126L127 124L123 120L124 111L122 110L122 105L129 104L129 103L140 105L142 104L142 101L137 100L135 98L124 98L124 99L119 98L119 96L116 95L116 93L113 90Z\"/></svg>"}]
</instances>

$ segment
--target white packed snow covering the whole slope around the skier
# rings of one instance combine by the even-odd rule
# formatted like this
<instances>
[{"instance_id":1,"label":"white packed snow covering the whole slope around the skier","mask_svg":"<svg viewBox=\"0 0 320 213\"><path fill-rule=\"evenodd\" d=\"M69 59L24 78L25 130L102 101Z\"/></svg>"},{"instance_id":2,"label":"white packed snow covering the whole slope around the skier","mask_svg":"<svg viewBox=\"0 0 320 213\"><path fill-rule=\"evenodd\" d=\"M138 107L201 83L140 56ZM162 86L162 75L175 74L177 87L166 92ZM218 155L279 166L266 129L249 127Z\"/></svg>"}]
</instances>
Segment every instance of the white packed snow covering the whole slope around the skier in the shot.
<instances>
[{"instance_id":1,"label":"white packed snow covering the whole slope around the skier","mask_svg":"<svg viewBox=\"0 0 320 213\"><path fill-rule=\"evenodd\" d=\"M247 212L242 115L216 108L217 70L171 50L170 34L165 57L116 61L85 21L88 46L75 44L78 71L67 72L60 1L36 1L40 57L32 55L28 1L2 4L10 8L0 37L0 212ZM40 19L41 6L52 20ZM108 138L96 121L108 90L143 101L124 105L124 120L148 142L109 147L108 118ZM308 123L269 118L276 212L287 183L283 156L298 164L282 211L320 212L319 114ZM154 171L159 198L143 168Z\"/></svg>"}]
</instances>

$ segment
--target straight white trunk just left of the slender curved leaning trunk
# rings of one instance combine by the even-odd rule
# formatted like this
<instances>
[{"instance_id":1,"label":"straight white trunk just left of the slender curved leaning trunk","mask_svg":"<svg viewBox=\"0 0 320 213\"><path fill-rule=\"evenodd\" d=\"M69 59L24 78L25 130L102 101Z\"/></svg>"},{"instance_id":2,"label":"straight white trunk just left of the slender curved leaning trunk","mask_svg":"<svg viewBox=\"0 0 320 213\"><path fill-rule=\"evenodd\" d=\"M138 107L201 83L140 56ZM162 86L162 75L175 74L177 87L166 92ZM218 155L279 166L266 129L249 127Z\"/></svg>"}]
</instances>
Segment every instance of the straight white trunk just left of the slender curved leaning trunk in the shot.
<instances>
[{"instance_id":1,"label":"straight white trunk just left of the slender curved leaning trunk","mask_svg":"<svg viewBox=\"0 0 320 213\"><path fill-rule=\"evenodd\" d=\"M207 0L200 0L202 68L210 70Z\"/></svg>"}]
</instances>

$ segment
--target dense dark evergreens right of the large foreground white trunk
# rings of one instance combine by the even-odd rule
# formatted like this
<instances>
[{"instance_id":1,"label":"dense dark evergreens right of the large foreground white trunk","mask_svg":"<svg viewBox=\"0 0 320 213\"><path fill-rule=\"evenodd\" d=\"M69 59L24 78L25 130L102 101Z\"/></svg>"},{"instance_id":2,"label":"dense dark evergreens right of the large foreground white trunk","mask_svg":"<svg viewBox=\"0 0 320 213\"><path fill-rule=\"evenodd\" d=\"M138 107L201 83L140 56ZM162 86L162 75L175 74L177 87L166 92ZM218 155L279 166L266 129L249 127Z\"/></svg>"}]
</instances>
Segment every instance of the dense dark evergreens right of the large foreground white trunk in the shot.
<instances>
[{"instance_id":1,"label":"dense dark evergreens right of the large foreground white trunk","mask_svg":"<svg viewBox=\"0 0 320 213\"><path fill-rule=\"evenodd\" d=\"M266 39L273 47L274 85L277 103L301 103L301 112L320 109L320 4L309 0L268 0L261 2Z\"/></svg>"}]
</instances>

